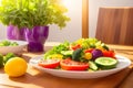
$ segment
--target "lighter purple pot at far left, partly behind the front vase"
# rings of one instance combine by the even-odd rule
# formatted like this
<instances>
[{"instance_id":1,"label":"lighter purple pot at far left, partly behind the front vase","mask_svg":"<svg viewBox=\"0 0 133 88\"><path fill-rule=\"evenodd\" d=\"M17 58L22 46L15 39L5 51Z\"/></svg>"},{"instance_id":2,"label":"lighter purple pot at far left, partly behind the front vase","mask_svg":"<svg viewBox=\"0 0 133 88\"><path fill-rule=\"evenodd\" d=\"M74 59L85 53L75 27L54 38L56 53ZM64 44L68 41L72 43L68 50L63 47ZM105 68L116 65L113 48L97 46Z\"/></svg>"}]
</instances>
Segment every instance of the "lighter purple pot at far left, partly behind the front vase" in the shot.
<instances>
[{"instance_id":1,"label":"lighter purple pot at far left, partly behind the front vase","mask_svg":"<svg viewBox=\"0 0 133 88\"><path fill-rule=\"evenodd\" d=\"M7 37L9 40L21 40L25 41L24 29L18 29L17 26L9 25L7 28Z\"/></svg>"}]
</instances>

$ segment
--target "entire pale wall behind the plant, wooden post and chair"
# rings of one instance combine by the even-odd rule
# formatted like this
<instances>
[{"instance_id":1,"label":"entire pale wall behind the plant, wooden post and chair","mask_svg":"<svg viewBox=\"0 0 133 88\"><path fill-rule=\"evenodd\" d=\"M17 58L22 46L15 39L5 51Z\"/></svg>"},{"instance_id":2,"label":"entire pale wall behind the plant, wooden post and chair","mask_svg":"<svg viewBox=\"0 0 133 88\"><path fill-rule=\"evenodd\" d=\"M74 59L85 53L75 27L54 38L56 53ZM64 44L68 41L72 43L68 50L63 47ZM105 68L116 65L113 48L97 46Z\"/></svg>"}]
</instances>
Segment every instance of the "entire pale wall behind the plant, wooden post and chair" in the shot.
<instances>
[{"instance_id":1,"label":"entire pale wall behind the plant, wooden post and chair","mask_svg":"<svg viewBox=\"0 0 133 88\"><path fill-rule=\"evenodd\" d=\"M68 8L68 15L71 21L68 25L58 30L55 25L50 26L48 41L63 42L69 40L73 42L82 36L82 0L63 0L63 4ZM95 36L98 13L100 7L133 7L132 0L89 0L89 35ZM6 26L0 24L0 40L7 38Z\"/></svg>"}]
</instances>

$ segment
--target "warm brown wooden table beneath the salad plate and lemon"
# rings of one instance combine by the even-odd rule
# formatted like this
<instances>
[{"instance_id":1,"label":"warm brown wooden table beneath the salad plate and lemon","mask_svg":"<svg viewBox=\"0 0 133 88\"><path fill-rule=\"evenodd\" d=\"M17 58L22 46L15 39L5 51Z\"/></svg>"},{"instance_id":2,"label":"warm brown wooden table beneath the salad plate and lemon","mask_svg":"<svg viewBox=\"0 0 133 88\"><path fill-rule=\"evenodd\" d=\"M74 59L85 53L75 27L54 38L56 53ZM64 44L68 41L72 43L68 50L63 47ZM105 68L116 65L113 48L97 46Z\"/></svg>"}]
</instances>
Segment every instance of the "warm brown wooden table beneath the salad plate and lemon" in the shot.
<instances>
[{"instance_id":1,"label":"warm brown wooden table beneath the salad plate and lemon","mask_svg":"<svg viewBox=\"0 0 133 88\"><path fill-rule=\"evenodd\" d=\"M45 45L45 50L51 48ZM120 55L133 61L133 46L109 45ZM22 56L29 61L42 53L23 53ZM94 79L70 79L61 78L42 73L29 65L27 74L18 78L10 78L0 68L0 88L132 88L133 70L132 65L114 75Z\"/></svg>"}]
</instances>

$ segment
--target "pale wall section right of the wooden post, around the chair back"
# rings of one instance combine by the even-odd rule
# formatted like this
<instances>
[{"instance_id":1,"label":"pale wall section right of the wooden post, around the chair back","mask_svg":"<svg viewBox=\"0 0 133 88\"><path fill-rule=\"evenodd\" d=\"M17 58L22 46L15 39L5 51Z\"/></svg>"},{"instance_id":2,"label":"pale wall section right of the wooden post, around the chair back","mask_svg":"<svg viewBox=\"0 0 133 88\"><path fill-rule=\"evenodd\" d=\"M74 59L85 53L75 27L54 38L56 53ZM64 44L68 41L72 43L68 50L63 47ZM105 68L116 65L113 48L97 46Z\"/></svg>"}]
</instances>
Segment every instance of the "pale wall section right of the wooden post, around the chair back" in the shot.
<instances>
[{"instance_id":1,"label":"pale wall section right of the wooden post, around the chair back","mask_svg":"<svg viewBox=\"0 0 133 88\"><path fill-rule=\"evenodd\" d=\"M100 7L133 7L133 0L89 0L90 36L95 36L98 13Z\"/></svg>"}]
</instances>

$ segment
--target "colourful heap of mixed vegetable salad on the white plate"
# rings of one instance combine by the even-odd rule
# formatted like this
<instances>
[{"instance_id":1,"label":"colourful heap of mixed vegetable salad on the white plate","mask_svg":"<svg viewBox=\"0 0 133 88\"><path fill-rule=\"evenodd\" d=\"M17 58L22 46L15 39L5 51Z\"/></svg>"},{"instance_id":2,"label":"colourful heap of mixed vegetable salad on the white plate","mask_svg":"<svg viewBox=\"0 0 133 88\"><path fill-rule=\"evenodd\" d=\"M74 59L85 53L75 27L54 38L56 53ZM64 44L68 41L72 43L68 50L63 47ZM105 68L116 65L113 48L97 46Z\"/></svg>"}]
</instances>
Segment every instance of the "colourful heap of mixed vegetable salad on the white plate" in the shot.
<instances>
[{"instance_id":1,"label":"colourful heap of mixed vegetable salad on the white plate","mask_svg":"<svg viewBox=\"0 0 133 88\"><path fill-rule=\"evenodd\" d=\"M48 51L39 66L64 70L104 70L115 68L114 51L96 38L64 42Z\"/></svg>"}]
</instances>

